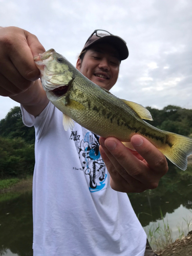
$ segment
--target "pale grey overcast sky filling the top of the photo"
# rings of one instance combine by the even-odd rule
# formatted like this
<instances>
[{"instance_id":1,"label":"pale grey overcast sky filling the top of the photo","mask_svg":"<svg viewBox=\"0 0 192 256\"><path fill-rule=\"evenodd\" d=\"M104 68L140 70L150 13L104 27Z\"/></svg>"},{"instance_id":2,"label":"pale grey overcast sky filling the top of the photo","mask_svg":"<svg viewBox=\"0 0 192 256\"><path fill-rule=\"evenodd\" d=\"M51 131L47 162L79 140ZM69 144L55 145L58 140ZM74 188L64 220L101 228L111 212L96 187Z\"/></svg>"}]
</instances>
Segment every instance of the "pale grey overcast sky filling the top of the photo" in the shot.
<instances>
[{"instance_id":1,"label":"pale grey overcast sky filling the top of the photo","mask_svg":"<svg viewBox=\"0 0 192 256\"><path fill-rule=\"evenodd\" d=\"M130 52L113 94L152 108L192 109L191 10L191 0L0 0L0 26L28 30L73 65L90 34L107 30ZM0 120L15 105L0 96Z\"/></svg>"}]
</instances>

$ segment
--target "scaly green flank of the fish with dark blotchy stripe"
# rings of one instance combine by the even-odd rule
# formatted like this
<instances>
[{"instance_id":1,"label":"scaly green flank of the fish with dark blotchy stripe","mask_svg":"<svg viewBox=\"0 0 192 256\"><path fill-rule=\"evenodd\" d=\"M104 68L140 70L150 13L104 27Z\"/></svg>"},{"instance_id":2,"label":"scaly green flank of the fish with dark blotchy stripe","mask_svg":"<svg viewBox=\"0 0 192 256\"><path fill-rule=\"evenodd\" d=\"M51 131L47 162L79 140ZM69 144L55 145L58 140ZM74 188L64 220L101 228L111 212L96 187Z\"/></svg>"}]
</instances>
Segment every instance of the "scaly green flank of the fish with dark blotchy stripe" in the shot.
<instances>
[{"instance_id":1,"label":"scaly green flank of the fish with dark blotchy stripe","mask_svg":"<svg viewBox=\"0 0 192 256\"><path fill-rule=\"evenodd\" d=\"M79 79L80 80L80 79ZM120 99L114 97L107 92L104 92L99 87L98 92L95 87L91 87L89 84L82 83L82 81L76 81L78 88L81 88L81 95L70 95L71 99L77 99L84 105L80 119L76 119L76 113L72 114L72 119L79 121L82 126L86 126L87 129L93 130L94 133L100 134L102 137L117 137L121 141L130 141L131 133L138 133L147 138L156 139L161 143L166 143L166 134L161 130L154 127L141 118ZM75 84L73 84L75 90ZM94 99L94 100L93 100ZM90 102L87 104L87 102ZM88 111L86 111L88 110ZM124 115L125 114L125 115ZM129 118L129 115L133 115L135 119ZM82 119L81 119L82 118ZM103 122L103 118L105 121ZM98 127L93 127L93 123L98 122ZM106 123L107 122L107 123ZM113 123L113 126L112 126ZM116 127L115 127L115 126ZM148 131L145 126L148 127ZM102 127L102 132L100 131ZM115 127L115 131L114 131Z\"/></svg>"}]
</instances>

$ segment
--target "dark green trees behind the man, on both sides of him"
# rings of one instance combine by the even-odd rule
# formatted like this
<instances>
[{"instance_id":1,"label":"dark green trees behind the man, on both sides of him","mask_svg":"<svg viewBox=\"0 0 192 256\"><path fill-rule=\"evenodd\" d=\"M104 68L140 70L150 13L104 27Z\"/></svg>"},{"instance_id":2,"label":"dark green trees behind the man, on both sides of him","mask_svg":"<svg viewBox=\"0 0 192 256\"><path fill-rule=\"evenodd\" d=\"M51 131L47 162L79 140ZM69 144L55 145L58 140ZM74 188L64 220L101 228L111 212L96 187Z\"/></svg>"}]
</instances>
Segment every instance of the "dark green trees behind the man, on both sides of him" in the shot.
<instances>
[{"instance_id":1,"label":"dark green trees behind the man, on both sides of him","mask_svg":"<svg viewBox=\"0 0 192 256\"><path fill-rule=\"evenodd\" d=\"M184 136L192 134L192 110L174 105L168 105L162 110L150 106L146 108L154 119L148 123ZM15 106L0 121L0 179L33 174L34 143L34 127L23 124L22 112L19 106Z\"/></svg>"}]
</instances>

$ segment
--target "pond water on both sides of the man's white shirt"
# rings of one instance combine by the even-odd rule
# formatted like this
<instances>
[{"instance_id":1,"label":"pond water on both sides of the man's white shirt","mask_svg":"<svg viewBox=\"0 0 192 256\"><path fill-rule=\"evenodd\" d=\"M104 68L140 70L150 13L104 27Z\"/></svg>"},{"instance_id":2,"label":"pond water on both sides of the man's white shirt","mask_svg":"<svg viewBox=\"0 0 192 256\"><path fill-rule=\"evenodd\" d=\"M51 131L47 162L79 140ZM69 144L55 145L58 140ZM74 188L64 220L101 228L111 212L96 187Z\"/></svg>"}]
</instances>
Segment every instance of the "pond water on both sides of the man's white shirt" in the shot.
<instances>
[{"instance_id":1,"label":"pond water on both sides of the man's white shirt","mask_svg":"<svg viewBox=\"0 0 192 256\"><path fill-rule=\"evenodd\" d=\"M151 240L167 224L175 240L192 229L192 165L184 172L169 164L158 188L129 194ZM32 192L0 195L0 255L32 256Z\"/></svg>"}]
</instances>

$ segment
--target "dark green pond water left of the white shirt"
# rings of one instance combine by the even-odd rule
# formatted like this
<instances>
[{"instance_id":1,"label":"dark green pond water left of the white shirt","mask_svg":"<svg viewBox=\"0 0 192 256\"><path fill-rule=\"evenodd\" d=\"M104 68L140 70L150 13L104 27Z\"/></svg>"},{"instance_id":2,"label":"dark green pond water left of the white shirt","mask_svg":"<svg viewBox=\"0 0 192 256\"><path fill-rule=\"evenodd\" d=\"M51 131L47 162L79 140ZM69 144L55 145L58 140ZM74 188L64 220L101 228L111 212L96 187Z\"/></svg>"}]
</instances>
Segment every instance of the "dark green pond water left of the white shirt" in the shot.
<instances>
[{"instance_id":1,"label":"dark green pond water left of the white shirt","mask_svg":"<svg viewBox=\"0 0 192 256\"><path fill-rule=\"evenodd\" d=\"M0 195L0 224L0 255L33 255L31 192Z\"/></svg>"}]
</instances>

